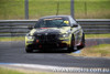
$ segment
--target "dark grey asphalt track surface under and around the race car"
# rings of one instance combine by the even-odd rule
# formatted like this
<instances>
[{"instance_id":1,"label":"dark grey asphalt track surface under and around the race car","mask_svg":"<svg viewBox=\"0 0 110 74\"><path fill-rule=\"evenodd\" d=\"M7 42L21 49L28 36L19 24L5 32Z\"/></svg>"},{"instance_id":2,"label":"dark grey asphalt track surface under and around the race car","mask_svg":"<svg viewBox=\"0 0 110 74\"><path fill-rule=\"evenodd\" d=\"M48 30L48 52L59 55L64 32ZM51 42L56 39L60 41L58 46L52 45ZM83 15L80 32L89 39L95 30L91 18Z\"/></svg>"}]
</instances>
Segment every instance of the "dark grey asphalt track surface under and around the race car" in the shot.
<instances>
[{"instance_id":1,"label":"dark grey asphalt track surface under and around the race car","mask_svg":"<svg viewBox=\"0 0 110 74\"><path fill-rule=\"evenodd\" d=\"M109 43L110 39L87 39L86 45ZM110 59L70 56L66 52L25 53L24 41L0 42L0 63L42 64L65 67L108 67Z\"/></svg>"}]
</instances>

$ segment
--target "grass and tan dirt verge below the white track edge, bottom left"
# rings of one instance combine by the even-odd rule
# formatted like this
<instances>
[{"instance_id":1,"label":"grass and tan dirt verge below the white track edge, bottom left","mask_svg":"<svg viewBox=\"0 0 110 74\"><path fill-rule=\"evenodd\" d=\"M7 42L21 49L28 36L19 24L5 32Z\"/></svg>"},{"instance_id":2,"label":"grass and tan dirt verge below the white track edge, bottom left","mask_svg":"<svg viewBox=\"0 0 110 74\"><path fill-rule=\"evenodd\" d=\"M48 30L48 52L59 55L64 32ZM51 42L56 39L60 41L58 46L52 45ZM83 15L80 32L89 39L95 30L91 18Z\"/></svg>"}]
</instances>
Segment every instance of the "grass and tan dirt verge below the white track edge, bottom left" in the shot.
<instances>
[{"instance_id":1,"label":"grass and tan dirt verge below the white track edge, bottom left","mask_svg":"<svg viewBox=\"0 0 110 74\"><path fill-rule=\"evenodd\" d=\"M54 72L41 72L25 68L16 68L16 67L6 67L0 66L0 74L55 74Z\"/></svg>"}]
</instances>

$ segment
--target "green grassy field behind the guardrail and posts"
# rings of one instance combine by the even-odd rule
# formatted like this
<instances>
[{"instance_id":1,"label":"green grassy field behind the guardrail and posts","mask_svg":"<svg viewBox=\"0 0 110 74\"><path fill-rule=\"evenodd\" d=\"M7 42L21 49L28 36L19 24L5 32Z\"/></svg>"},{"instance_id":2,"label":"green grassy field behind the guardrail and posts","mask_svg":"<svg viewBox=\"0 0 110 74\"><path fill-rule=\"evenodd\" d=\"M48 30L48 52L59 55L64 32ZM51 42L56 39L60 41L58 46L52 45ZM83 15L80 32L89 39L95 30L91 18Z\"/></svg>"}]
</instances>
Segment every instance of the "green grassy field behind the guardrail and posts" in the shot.
<instances>
[{"instance_id":1,"label":"green grassy field behind the guardrail and posts","mask_svg":"<svg viewBox=\"0 0 110 74\"><path fill-rule=\"evenodd\" d=\"M75 18L110 19L109 4L110 0L75 0ZM56 9L57 0L29 0L30 19L56 14ZM24 0L0 0L0 20L24 19ZM59 0L59 14L70 14L70 0Z\"/></svg>"}]
</instances>

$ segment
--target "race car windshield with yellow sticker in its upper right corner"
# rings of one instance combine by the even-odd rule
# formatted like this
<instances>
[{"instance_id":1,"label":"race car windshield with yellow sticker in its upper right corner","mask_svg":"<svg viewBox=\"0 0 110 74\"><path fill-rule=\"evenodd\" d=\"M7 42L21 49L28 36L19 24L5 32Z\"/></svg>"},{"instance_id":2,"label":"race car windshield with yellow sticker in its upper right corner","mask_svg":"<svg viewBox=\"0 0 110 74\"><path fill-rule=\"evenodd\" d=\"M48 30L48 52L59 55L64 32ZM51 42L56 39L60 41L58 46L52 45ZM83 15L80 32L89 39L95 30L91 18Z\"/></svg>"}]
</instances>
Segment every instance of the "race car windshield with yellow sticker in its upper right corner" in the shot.
<instances>
[{"instance_id":1,"label":"race car windshield with yellow sticker in its upper right corner","mask_svg":"<svg viewBox=\"0 0 110 74\"><path fill-rule=\"evenodd\" d=\"M61 28L68 27L69 21L66 21L62 18L57 19L41 19L34 28Z\"/></svg>"}]
</instances>

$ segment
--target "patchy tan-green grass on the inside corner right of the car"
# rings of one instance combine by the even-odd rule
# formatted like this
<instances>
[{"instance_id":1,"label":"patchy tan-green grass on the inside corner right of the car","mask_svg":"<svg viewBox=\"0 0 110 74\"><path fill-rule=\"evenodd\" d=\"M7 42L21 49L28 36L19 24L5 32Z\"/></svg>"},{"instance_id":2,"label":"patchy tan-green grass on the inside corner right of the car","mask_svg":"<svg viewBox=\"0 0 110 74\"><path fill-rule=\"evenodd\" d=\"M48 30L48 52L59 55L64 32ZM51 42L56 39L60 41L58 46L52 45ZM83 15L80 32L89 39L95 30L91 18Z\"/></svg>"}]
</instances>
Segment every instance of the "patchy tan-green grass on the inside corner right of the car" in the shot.
<instances>
[{"instance_id":1,"label":"patchy tan-green grass on the inside corner right of the car","mask_svg":"<svg viewBox=\"0 0 110 74\"><path fill-rule=\"evenodd\" d=\"M99 44L91 47L85 47L82 49L81 53L72 53L70 55L110 57L110 44Z\"/></svg>"}]
</instances>

